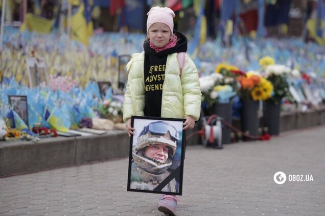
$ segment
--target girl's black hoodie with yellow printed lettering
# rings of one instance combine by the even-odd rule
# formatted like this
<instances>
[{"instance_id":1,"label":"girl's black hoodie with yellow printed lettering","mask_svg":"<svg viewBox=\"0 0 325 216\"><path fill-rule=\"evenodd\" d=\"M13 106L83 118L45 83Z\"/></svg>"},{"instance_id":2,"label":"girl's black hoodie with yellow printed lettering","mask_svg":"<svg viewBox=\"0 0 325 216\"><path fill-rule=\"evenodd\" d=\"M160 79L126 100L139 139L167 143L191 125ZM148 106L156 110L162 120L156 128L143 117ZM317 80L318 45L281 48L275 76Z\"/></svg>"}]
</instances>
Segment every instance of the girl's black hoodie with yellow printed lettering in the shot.
<instances>
[{"instance_id":1,"label":"girl's black hoodie with yellow printed lettering","mask_svg":"<svg viewBox=\"0 0 325 216\"><path fill-rule=\"evenodd\" d=\"M162 85L165 79L167 56L175 52L186 52L188 39L174 30L176 46L156 52L149 42L144 43L145 63L145 116L161 117Z\"/></svg>"}]
</instances>

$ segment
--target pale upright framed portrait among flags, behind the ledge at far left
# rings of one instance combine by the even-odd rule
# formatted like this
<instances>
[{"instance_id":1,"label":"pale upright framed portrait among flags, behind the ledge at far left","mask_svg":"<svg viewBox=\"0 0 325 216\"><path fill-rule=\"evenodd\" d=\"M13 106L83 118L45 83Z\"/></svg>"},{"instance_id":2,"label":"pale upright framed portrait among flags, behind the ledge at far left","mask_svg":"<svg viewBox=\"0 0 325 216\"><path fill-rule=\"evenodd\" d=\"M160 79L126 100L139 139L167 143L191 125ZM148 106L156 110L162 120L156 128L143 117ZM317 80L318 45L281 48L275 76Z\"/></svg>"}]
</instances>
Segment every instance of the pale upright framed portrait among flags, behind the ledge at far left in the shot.
<instances>
[{"instance_id":1,"label":"pale upright framed portrait among flags, behind the ledge at far left","mask_svg":"<svg viewBox=\"0 0 325 216\"><path fill-rule=\"evenodd\" d=\"M29 87L33 88L41 83L48 84L48 73L43 58L26 58Z\"/></svg>"}]
</instances>

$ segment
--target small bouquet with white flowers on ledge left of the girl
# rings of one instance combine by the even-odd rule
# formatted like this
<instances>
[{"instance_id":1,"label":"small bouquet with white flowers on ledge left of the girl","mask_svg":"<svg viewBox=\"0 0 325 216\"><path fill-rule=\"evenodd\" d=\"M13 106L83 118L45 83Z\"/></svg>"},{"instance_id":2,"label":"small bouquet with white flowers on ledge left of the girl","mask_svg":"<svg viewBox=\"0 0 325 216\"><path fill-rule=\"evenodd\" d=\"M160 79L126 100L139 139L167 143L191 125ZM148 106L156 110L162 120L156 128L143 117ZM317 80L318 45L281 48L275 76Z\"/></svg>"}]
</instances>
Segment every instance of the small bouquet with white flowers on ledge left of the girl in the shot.
<instances>
[{"instance_id":1,"label":"small bouquet with white flowers on ledge left of the girl","mask_svg":"<svg viewBox=\"0 0 325 216\"><path fill-rule=\"evenodd\" d=\"M110 119L115 123L123 121L123 104L120 101L104 100L99 104L98 112L103 118Z\"/></svg>"}]
</instances>

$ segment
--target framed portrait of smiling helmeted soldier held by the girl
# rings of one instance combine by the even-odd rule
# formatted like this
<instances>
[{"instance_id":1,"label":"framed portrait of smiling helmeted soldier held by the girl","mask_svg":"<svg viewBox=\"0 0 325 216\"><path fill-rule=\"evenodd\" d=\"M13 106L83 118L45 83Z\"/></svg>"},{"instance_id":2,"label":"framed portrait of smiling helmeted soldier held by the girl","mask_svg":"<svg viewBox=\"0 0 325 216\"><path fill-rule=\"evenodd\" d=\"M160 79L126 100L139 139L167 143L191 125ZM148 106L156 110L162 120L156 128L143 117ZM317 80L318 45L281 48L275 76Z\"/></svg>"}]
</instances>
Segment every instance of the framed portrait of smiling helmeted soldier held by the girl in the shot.
<instances>
[{"instance_id":1,"label":"framed portrait of smiling helmeted soldier held by the girl","mask_svg":"<svg viewBox=\"0 0 325 216\"><path fill-rule=\"evenodd\" d=\"M132 116L127 191L182 195L184 121Z\"/></svg>"}]
</instances>

